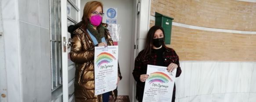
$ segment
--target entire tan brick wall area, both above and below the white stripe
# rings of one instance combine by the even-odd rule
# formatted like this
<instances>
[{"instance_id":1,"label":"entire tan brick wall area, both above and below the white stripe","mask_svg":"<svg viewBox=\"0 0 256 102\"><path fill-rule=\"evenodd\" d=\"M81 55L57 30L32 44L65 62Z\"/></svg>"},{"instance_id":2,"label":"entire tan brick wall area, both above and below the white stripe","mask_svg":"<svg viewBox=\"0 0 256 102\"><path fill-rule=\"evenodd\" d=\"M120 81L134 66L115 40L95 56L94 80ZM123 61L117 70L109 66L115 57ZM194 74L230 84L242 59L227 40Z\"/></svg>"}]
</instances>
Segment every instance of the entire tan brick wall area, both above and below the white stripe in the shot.
<instances>
[{"instance_id":1,"label":"entire tan brick wall area, both above and below the white stripe","mask_svg":"<svg viewBox=\"0 0 256 102\"><path fill-rule=\"evenodd\" d=\"M151 0L155 11L174 22L206 28L256 31L256 3L236 0ZM150 27L155 21L150 21ZM171 45L180 60L256 61L256 35L173 26Z\"/></svg>"}]
</instances>

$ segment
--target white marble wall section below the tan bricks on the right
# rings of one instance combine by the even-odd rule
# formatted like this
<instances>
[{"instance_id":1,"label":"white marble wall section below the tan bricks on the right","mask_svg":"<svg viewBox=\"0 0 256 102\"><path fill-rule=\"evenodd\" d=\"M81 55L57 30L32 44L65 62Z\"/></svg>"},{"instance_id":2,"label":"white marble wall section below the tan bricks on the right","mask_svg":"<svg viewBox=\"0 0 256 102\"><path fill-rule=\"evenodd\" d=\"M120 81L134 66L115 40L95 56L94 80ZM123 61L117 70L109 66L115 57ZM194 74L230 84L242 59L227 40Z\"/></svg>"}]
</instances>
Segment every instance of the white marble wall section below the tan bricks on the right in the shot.
<instances>
[{"instance_id":1,"label":"white marble wall section below the tan bricks on the right","mask_svg":"<svg viewBox=\"0 0 256 102\"><path fill-rule=\"evenodd\" d=\"M177 102L256 102L256 63L180 63Z\"/></svg>"}]
</instances>

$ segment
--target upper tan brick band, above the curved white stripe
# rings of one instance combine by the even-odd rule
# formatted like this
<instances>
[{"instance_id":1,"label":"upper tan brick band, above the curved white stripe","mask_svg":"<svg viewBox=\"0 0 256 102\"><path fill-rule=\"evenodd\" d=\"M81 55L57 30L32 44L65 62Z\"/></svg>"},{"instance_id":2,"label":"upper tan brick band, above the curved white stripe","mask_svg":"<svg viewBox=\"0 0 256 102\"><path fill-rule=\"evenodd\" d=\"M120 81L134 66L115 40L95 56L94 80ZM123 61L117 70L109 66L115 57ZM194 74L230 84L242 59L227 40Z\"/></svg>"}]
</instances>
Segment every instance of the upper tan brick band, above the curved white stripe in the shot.
<instances>
[{"instance_id":1,"label":"upper tan brick band, above the curved white stripe","mask_svg":"<svg viewBox=\"0 0 256 102\"><path fill-rule=\"evenodd\" d=\"M155 12L174 22L207 28L256 31L256 3L236 0L151 0Z\"/></svg>"}]
</instances>

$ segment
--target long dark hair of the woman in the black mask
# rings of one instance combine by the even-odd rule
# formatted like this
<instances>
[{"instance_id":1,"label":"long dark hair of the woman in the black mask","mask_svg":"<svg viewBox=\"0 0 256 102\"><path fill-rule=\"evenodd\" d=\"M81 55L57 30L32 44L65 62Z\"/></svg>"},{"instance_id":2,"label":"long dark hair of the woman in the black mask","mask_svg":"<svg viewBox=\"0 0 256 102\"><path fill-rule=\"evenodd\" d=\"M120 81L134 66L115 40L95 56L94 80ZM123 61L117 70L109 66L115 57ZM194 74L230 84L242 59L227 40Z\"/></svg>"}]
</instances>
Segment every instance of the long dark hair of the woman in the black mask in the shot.
<instances>
[{"instance_id":1,"label":"long dark hair of the woman in the black mask","mask_svg":"<svg viewBox=\"0 0 256 102\"><path fill-rule=\"evenodd\" d=\"M141 54L142 57L145 57L145 56L148 56L151 54L151 49L153 47L154 35L158 29L160 29L162 31L163 38L165 38L165 34L164 34L163 28L161 26L154 25L153 27L151 27L147 34L145 49L143 50L143 52ZM162 47L167 48L165 45L165 42L162 42Z\"/></svg>"}]
</instances>

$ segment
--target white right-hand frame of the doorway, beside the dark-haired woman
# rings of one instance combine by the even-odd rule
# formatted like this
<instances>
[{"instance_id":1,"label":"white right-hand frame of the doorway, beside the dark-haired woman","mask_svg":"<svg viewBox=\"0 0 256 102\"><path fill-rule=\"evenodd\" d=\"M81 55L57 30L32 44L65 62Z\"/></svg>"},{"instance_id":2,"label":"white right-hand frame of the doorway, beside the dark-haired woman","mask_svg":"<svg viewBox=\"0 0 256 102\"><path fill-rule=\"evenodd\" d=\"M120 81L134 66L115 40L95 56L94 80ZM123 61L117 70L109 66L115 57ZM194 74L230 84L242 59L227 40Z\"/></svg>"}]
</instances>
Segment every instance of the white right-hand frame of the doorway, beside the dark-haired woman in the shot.
<instances>
[{"instance_id":1,"label":"white right-hand frame of the doorway, beside the dark-haired woman","mask_svg":"<svg viewBox=\"0 0 256 102\"><path fill-rule=\"evenodd\" d=\"M139 3L140 2L140 3ZM144 43L146 39L146 35L149 30L150 25L150 9L151 9L151 0L135 0L136 5L136 15L135 15L135 26L134 26L134 52L131 53L134 57L131 59L132 65L130 72L133 72L134 68L134 60L138 53L144 49ZM132 75L132 74L131 74ZM136 82L133 79L133 76L130 76L130 83L132 83L132 86L130 88L130 100L131 102L137 102L135 96L136 96Z\"/></svg>"}]
</instances>

